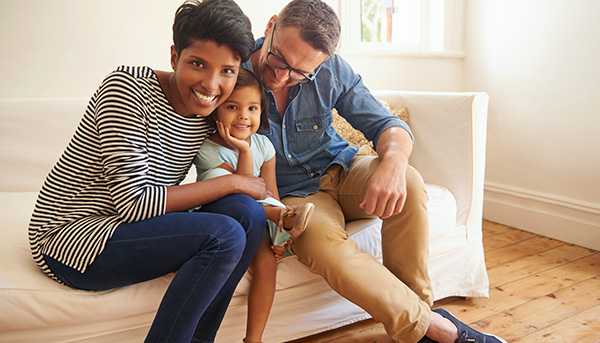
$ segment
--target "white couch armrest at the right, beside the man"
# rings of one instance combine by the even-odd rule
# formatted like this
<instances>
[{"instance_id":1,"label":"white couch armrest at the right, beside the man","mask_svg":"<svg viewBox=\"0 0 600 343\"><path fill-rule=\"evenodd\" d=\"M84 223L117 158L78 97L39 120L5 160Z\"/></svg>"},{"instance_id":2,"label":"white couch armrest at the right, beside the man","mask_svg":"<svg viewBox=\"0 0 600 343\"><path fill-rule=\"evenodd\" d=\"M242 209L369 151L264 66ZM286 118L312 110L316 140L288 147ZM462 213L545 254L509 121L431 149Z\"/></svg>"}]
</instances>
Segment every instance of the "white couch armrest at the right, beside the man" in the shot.
<instances>
[{"instance_id":1,"label":"white couch armrest at the right, beside the man","mask_svg":"<svg viewBox=\"0 0 600 343\"><path fill-rule=\"evenodd\" d=\"M411 164L428 183L450 189L457 225L481 236L489 97L486 93L376 91L392 107L405 106L415 135Z\"/></svg>"}]
</instances>

